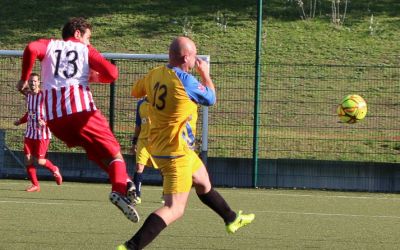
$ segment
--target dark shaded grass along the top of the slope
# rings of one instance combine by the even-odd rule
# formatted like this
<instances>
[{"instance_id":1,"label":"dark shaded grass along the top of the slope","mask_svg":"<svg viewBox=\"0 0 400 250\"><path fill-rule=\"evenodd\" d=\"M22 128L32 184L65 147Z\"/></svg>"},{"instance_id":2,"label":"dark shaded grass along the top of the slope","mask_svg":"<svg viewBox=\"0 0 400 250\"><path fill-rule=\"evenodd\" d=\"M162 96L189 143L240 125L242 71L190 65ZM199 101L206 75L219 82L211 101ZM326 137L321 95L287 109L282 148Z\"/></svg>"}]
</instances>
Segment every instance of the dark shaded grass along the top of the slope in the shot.
<instances>
[{"instance_id":1,"label":"dark shaded grass along the top of the slope","mask_svg":"<svg viewBox=\"0 0 400 250\"><path fill-rule=\"evenodd\" d=\"M310 1L303 1L305 9ZM321 4L321 1L317 2ZM281 20L300 18L300 9L294 0L271 0L263 3L264 17L272 16ZM92 21L105 20L100 26L114 27L107 34L109 36L121 36L134 27L140 36L151 37L177 29L176 20L183 17L214 19L217 12L222 12L229 16L230 25L235 25L238 19L255 20L256 9L257 1L254 0L182 0L179 3L173 0L2 0L0 47L2 43L24 44L42 37L43 34L59 38L62 26L73 16L84 16ZM330 1L317 6L317 12L322 15L330 14L330 11ZM370 13L396 16L400 13L400 3L398 0L350 2L348 14L357 13L363 13L364 16ZM116 19L120 15L128 20L124 23ZM137 16L146 18L137 20Z\"/></svg>"}]
</instances>

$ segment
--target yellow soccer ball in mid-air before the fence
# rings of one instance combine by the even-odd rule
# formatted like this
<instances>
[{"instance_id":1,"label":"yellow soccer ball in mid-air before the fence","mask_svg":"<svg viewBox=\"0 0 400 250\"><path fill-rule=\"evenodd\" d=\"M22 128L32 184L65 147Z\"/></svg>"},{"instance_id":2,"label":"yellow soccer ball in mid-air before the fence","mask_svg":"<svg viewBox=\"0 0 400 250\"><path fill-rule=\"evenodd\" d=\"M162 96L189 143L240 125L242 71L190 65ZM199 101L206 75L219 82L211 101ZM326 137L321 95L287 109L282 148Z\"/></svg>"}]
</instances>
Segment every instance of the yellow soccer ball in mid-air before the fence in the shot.
<instances>
[{"instance_id":1,"label":"yellow soccer ball in mid-air before the fence","mask_svg":"<svg viewBox=\"0 0 400 250\"><path fill-rule=\"evenodd\" d=\"M356 123L367 115L367 103L359 95L348 95L340 102L337 114L344 123Z\"/></svg>"}]
</instances>

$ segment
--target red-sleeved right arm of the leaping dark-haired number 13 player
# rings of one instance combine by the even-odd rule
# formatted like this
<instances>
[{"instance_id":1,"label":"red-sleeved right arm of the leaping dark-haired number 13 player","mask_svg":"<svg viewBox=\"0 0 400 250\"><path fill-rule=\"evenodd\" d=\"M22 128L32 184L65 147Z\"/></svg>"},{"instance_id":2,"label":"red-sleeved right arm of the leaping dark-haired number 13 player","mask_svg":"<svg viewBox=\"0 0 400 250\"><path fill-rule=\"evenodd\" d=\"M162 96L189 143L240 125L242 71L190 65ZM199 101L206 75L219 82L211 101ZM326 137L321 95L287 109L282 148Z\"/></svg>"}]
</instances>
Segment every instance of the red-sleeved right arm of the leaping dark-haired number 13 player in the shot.
<instances>
[{"instance_id":1,"label":"red-sleeved right arm of the leaping dark-haired number 13 player","mask_svg":"<svg viewBox=\"0 0 400 250\"><path fill-rule=\"evenodd\" d=\"M94 47L89 48L89 67L96 71L96 82L111 83L118 79L118 68L107 61ZM91 79L93 81L93 79Z\"/></svg>"}]
</instances>

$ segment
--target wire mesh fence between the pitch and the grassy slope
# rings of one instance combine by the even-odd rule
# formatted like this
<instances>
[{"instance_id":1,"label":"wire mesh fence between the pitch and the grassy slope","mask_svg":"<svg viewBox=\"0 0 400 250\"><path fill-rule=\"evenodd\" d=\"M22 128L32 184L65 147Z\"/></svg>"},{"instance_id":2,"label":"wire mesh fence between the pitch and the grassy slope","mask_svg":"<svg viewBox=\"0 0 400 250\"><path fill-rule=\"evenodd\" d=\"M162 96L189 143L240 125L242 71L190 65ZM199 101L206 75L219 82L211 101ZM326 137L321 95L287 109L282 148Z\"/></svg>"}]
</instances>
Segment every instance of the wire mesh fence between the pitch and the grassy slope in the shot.
<instances>
[{"instance_id":1,"label":"wire mesh fence between the pitch and the grassy slope","mask_svg":"<svg viewBox=\"0 0 400 250\"><path fill-rule=\"evenodd\" d=\"M92 84L96 105L110 117L122 150L128 153L133 134L136 100L132 83L159 60L115 60L120 77L115 99L110 85ZM13 122L25 112L15 90L21 59L0 57L0 129L6 146L22 150L23 127ZM39 68L35 68L39 72ZM254 64L212 62L217 104L209 109L208 156L251 158L253 152ZM316 159L358 162L400 162L400 68L354 65L263 64L258 127L259 159ZM367 117L343 124L336 115L338 102L359 94L368 103ZM199 121L200 123L201 121ZM201 144L201 124L198 124ZM54 139L50 151L67 149Z\"/></svg>"}]
</instances>

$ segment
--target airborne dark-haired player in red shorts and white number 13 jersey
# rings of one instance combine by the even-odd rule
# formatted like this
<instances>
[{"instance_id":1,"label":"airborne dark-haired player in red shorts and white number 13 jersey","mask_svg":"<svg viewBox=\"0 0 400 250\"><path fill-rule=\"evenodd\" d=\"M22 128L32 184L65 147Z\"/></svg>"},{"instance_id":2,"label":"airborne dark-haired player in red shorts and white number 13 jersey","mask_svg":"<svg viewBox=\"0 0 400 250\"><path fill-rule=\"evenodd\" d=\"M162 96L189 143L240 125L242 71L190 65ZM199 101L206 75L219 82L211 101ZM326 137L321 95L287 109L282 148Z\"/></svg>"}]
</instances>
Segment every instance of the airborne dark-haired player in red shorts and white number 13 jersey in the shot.
<instances>
[{"instance_id":1,"label":"airborne dark-haired player in red shorts and white number 13 jersey","mask_svg":"<svg viewBox=\"0 0 400 250\"><path fill-rule=\"evenodd\" d=\"M127 197L128 174L120 145L97 109L89 86L89 82L114 82L118 69L90 44L91 29L86 19L71 18L63 27L62 39L30 42L24 50L17 89L24 91L38 59L45 120L51 132L67 146L85 149L88 158L109 176L110 201L129 220L138 222L139 215Z\"/></svg>"}]
</instances>

